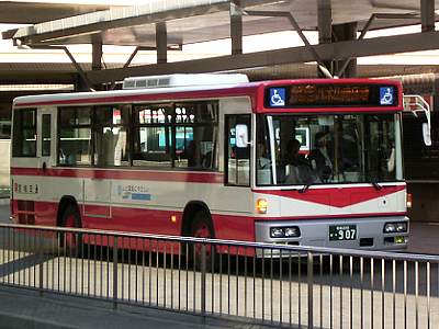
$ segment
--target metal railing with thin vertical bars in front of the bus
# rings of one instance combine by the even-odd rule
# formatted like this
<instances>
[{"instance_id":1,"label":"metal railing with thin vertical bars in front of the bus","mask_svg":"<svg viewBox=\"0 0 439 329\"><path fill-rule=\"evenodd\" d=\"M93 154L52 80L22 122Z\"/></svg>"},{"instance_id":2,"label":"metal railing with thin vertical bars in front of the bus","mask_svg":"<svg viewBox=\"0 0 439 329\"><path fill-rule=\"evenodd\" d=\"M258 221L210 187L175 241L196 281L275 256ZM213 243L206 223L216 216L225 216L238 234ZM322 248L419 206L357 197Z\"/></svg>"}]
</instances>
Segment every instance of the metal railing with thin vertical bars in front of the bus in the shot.
<instances>
[{"instance_id":1,"label":"metal railing with thin vertical bars in front of the bus","mask_svg":"<svg viewBox=\"0 0 439 329\"><path fill-rule=\"evenodd\" d=\"M0 285L281 327L435 328L438 270L432 256L0 224Z\"/></svg>"}]
</instances>

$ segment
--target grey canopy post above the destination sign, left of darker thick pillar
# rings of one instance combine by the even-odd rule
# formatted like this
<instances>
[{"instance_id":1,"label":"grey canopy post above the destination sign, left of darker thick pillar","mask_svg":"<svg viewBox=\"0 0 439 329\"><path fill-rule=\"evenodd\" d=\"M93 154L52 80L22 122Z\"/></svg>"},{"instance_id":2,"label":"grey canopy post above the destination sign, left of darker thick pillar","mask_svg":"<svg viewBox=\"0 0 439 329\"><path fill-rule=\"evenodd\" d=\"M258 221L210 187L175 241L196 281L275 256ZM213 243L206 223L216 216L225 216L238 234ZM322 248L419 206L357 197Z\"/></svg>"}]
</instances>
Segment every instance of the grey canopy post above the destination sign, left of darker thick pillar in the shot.
<instances>
[{"instance_id":1,"label":"grey canopy post above the destination sign, left of darker thick pillar","mask_svg":"<svg viewBox=\"0 0 439 329\"><path fill-rule=\"evenodd\" d=\"M333 10L330 0L317 0L317 27L318 27L318 43L330 44L333 39ZM333 73L333 64L330 60L324 61L326 68ZM317 69L318 76L325 76Z\"/></svg>"}]
</instances>

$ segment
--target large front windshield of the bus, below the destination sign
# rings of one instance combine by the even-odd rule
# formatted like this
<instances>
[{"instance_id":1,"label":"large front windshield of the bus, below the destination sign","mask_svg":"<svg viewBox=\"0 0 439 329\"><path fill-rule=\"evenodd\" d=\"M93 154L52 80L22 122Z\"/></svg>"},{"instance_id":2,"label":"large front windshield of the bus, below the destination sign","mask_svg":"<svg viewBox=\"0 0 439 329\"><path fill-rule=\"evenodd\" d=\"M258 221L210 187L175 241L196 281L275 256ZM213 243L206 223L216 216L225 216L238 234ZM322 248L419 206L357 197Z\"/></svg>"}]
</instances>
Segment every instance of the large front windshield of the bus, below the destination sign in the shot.
<instances>
[{"instance_id":1,"label":"large front windshield of the bus, below the destination sign","mask_svg":"<svg viewBox=\"0 0 439 329\"><path fill-rule=\"evenodd\" d=\"M261 115L256 168L258 185L403 180L399 116Z\"/></svg>"}]
</instances>

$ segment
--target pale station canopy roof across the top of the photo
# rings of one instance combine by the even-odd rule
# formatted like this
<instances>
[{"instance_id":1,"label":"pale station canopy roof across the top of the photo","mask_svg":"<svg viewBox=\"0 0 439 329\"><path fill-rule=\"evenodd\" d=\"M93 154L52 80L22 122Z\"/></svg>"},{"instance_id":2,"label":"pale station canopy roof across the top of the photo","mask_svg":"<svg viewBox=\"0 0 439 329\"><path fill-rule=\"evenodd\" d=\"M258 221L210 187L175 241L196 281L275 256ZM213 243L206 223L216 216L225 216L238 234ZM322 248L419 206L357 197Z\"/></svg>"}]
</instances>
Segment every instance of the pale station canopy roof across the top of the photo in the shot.
<instances>
[{"instance_id":1,"label":"pale station canopy roof across the top of the photo","mask_svg":"<svg viewBox=\"0 0 439 329\"><path fill-rule=\"evenodd\" d=\"M235 2L239 5L235 5ZM63 18L3 33L27 45L87 44L156 46L156 23L166 22L168 47L230 37L230 15L241 15L243 35L294 30L285 16L260 16L247 11L289 12L300 27L315 31L322 0L150 0ZM420 0L331 0L333 25L358 23L361 31L419 24ZM140 4L142 3L142 4ZM435 1L436 8L439 1ZM381 15L381 16L379 16Z\"/></svg>"}]
</instances>

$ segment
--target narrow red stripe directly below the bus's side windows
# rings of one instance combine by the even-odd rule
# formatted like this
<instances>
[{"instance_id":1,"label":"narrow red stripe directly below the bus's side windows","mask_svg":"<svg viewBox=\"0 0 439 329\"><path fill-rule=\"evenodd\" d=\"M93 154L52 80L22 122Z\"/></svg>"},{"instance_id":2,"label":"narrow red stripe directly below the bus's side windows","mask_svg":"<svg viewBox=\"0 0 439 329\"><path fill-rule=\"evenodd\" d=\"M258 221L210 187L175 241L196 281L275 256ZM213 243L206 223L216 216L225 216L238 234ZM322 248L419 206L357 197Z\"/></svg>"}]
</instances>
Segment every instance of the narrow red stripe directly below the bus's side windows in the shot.
<instances>
[{"instance_id":1,"label":"narrow red stripe directly below the bus's side windows","mask_svg":"<svg viewBox=\"0 0 439 329\"><path fill-rule=\"evenodd\" d=\"M166 182L191 182L219 184L224 181L224 174L218 172L193 172L193 171L154 171L154 170L97 170L97 169L71 169L52 168L43 171L37 168L11 168L12 175L46 175L61 178L91 178L113 180L142 180L142 181L166 181Z\"/></svg>"}]
</instances>

